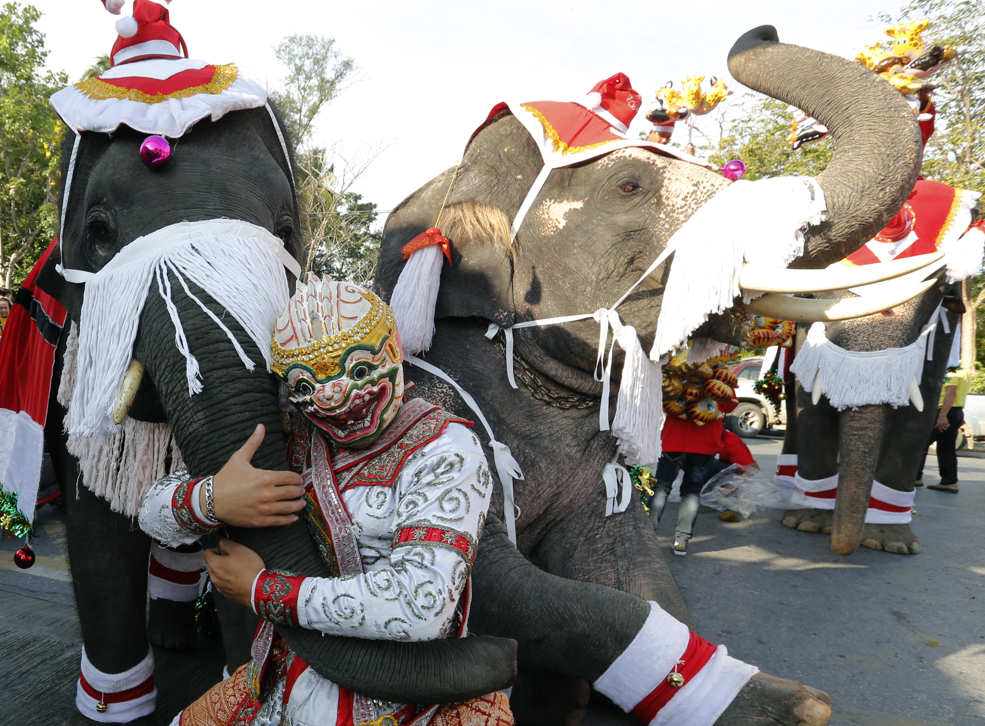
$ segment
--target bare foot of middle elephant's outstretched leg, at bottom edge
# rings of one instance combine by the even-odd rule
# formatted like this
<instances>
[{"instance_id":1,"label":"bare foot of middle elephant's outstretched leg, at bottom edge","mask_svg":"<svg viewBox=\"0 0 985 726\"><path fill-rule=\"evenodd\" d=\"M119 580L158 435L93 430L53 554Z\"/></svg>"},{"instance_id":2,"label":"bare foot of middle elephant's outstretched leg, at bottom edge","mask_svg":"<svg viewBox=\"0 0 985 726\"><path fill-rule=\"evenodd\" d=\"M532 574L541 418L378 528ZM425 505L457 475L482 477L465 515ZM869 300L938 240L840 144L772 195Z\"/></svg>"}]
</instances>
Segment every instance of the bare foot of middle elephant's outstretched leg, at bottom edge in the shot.
<instances>
[{"instance_id":1,"label":"bare foot of middle elephant's outstretched leg, at bottom edge","mask_svg":"<svg viewBox=\"0 0 985 726\"><path fill-rule=\"evenodd\" d=\"M824 726L827 693L785 678L757 673L715 721L715 726Z\"/></svg>"}]
</instances>

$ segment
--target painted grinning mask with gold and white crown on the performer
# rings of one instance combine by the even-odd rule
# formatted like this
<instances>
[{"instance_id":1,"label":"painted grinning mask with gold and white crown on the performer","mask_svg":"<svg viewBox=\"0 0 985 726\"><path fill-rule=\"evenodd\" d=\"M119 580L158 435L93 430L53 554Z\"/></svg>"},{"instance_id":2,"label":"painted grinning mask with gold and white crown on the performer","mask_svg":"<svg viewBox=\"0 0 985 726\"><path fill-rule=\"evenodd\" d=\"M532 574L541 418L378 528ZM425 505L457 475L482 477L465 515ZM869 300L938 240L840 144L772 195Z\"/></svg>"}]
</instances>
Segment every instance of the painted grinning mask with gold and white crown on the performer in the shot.
<instances>
[{"instance_id":1,"label":"painted grinning mask with gold and white crown on the performer","mask_svg":"<svg viewBox=\"0 0 985 726\"><path fill-rule=\"evenodd\" d=\"M393 310L355 283L309 275L274 325L274 363L291 403L340 446L374 441L404 396Z\"/></svg>"}]
</instances>

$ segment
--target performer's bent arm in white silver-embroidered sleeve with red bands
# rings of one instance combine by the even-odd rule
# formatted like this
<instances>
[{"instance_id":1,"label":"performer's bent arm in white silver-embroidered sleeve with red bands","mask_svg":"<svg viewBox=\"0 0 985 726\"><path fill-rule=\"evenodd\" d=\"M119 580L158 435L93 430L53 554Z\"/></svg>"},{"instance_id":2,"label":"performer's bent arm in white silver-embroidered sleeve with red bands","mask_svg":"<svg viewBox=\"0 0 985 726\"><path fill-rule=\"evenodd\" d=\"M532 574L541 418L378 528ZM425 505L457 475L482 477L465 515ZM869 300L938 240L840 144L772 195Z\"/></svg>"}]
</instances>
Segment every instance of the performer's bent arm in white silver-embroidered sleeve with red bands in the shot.
<instances>
[{"instance_id":1,"label":"performer's bent arm in white silver-embroidered sleeve with red bands","mask_svg":"<svg viewBox=\"0 0 985 726\"><path fill-rule=\"evenodd\" d=\"M238 582L228 586L241 592L251 579L247 602L277 623L357 637L440 637L468 580L493 489L479 440L465 427L449 424L423 456L405 465L394 487L397 521L389 566L348 577L264 569L251 579L250 562L255 567L259 558L247 561L249 555L256 557L247 551L229 562L242 565ZM207 554L206 560L210 571L227 564L215 555ZM213 581L230 597L222 574L217 578L214 573Z\"/></svg>"}]
</instances>

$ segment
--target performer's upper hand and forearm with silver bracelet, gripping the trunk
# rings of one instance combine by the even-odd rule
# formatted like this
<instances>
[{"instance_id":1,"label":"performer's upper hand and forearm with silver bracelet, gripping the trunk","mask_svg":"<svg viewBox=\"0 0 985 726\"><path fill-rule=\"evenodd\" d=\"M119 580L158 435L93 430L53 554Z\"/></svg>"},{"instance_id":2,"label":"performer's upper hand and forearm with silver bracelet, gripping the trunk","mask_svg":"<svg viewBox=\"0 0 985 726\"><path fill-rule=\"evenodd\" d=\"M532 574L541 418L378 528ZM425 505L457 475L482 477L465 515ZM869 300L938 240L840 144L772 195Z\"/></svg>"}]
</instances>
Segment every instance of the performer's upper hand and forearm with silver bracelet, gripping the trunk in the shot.
<instances>
[{"instance_id":1,"label":"performer's upper hand and forearm with silver bracelet, gripping the trunk","mask_svg":"<svg viewBox=\"0 0 985 726\"><path fill-rule=\"evenodd\" d=\"M226 524L276 527L297 519L304 508L301 478L294 472L254 469L250 458L263 441L264 428L246 439L219 473L212 477L214 516L209 514L208 478L193 479L185 471L164 476L141 502L140 528L168 546L188 545Z\"/></svg>"}]
</instances>

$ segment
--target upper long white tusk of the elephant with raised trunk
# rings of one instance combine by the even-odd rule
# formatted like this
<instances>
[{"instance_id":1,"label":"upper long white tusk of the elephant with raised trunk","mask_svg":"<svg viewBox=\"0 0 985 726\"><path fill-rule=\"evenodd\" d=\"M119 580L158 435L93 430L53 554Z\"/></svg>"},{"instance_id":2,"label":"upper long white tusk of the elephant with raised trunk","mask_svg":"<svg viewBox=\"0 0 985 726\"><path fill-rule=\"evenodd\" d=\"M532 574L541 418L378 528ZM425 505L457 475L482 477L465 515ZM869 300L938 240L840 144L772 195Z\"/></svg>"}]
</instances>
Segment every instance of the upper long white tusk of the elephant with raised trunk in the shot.
<instances>
[{"instance_id":1,"label":"upper long white tusk of the elephant with raised trunk","mask_svg":"<svg viewBox=\"0 0 985 726\"><path fill-rule=\"evenodd\" d=\"M944 252L931 252L857 267L835 264L824 270L790 270L747 263L739 274L739 287L746 291L763 293L848 290L907 275L934 264L942 257Z\"/></svg>"}]
</instances>

